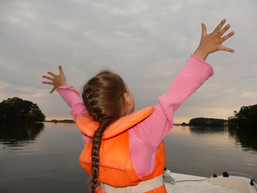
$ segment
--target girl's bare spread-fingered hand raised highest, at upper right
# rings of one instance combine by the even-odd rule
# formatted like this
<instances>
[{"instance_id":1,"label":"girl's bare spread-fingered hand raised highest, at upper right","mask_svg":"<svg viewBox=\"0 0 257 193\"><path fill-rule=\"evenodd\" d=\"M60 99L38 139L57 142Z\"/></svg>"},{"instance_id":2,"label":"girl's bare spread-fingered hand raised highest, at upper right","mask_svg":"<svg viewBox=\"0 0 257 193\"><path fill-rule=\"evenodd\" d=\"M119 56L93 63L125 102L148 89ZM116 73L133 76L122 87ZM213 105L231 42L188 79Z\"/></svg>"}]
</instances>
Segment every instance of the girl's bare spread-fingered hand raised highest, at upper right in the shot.
<instances>
[{"instance_id":1,"label":"girl's bare spread-fingered hand raised highest, at upper right","mask_svg":"<svg viewBox=\"0 0 257 193\"><path fill-rule=\"evenodd\" d=\"M206 26L202 23L202 36L200 44L194 53L195 56L205 60L210 53L216 52L218 50L224 50L232 53L234 52L234 50L226 48L222 45L225 40L235 34L232 31L226 36L221 37L230 28L230 25L228 24L221 30L225 22L226 20L223 19L222 22L216 27L216 29L210 34L206 33Z\"/></svg>"}]
</instances>

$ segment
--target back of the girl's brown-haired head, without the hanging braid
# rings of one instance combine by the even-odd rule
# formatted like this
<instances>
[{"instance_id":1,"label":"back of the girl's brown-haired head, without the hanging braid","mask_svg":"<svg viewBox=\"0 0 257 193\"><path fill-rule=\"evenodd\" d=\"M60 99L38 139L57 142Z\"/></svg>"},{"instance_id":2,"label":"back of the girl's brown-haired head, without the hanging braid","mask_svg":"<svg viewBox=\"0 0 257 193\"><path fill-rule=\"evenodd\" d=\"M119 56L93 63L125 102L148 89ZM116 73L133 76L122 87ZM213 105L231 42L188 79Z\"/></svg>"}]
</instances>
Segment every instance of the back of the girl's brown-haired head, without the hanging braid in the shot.
<instances>
[{"instance_id":1,"label":"back of the girl's brown-haired head, without the hanging braid","mask_svg":"<svg viewBox=\"0 0 257 193\"><path fill-rule=\"evenodd\" d=\"M95 121L108 119L111 124L127 113L125 92L125 83L118 74L102 70L84 85L82 99Z\"/></svg>"}]
</instances>

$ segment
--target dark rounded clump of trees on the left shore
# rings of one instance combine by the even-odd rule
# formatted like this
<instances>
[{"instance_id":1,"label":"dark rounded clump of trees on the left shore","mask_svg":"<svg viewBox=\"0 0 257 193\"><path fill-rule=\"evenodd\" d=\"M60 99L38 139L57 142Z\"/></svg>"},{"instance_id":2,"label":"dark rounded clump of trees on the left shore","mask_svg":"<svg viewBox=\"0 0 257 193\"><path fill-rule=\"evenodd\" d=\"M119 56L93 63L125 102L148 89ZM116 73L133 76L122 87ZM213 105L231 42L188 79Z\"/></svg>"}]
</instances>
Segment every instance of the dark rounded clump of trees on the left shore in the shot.
<instances>
[{"instance_id":1,"label":"dark rounded clump of trees on the left shore","mask_svg":"<svg viewBox=\"0 0 257 193\"><path fill-rule=\"evenodd\" d=\"M0 103L0 121L39 122L45 116L36 103L18 97L8 98Z\"/></svg>"}]
</instances>

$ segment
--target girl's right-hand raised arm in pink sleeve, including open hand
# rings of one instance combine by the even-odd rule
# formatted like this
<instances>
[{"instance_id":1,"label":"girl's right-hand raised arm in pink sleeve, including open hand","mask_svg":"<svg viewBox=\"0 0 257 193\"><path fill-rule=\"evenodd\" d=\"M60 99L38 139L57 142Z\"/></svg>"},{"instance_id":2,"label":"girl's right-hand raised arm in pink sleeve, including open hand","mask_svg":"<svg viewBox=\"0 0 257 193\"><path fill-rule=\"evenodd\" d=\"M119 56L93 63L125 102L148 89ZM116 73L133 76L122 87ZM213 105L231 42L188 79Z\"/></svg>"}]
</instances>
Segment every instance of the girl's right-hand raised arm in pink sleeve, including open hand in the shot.
<instances>
[{"instance_id":1,"label":"girl's right-hand raised arm in pink sleeve, including open hand","mask_svg":"<svg viewBox=\"0 0 257 193\"><path fill-rule=\"evenodd\" d=\"M130 131L130 133L134 132L131 136L137 137L134 137L135 141L145 141L157 148L173 126L174 111L213 75L212 67L203 60L210 53L218 50L234 52L234 50L222 46L225 40L234 35L234 32L231 32L221 37L230 28L230 25L226 25L221 29L225 22L225 19L222 20L210 34L206 33L206 27L202 24L201 41L194 55L177 74L168 91L158 98L159 102L155 106L155 111L147 119L137 124L137 129Z\"/></svg>"}]
</instances>

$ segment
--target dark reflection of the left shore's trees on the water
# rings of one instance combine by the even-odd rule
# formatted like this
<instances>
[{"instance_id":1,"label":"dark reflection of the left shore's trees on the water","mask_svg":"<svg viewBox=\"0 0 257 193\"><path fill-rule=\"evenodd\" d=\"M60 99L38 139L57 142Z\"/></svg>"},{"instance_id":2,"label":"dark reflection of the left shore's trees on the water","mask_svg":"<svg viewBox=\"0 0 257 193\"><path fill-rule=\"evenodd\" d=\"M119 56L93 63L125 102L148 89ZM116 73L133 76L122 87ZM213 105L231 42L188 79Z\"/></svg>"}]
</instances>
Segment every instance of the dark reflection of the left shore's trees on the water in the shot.
<instances>
[{"instance_id":1,"label":"dark reflection of the left shore's trees on the water","mask_svg":"<svg viewBox=\"0 0 257 193\"><path fill-rule=\"evenodd\" d=\"M43 131L43 123L0 122L0 143L7 146L24 146Z\"/></svg>"}]
</instances>

